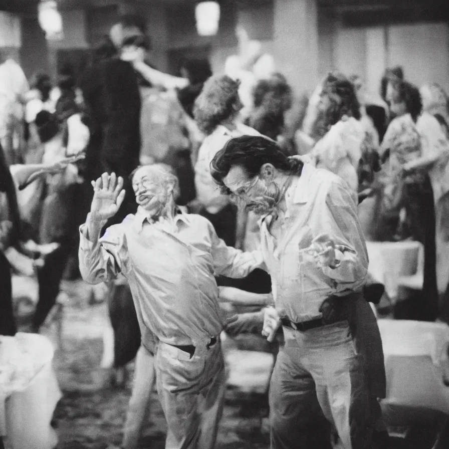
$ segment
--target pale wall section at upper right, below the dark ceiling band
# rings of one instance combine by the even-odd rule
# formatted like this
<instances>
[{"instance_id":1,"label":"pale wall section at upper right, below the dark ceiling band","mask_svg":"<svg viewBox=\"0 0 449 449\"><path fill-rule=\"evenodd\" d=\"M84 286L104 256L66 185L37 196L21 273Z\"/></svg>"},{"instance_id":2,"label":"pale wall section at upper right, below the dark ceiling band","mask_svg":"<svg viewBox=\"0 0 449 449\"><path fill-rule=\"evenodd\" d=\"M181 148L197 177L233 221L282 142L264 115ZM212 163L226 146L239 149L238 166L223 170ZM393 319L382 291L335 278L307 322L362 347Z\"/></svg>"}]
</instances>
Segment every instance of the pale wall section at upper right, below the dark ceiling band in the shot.
<instances>
[{"instance_id":1,"label":"pale wall section at upper right, below the dark ceiling band","mask_svg":"<svg viewBox=\"0 0 449 449\"><path fill-rule=\"evenodd\" d=\"M447 23L378 27L337 24L332 56L338 70L361 75L371 93L378 92L385 68L396 65L402 66L406 79L417 86L436 82L449 92Z\"/></svg>"}]
</instances>

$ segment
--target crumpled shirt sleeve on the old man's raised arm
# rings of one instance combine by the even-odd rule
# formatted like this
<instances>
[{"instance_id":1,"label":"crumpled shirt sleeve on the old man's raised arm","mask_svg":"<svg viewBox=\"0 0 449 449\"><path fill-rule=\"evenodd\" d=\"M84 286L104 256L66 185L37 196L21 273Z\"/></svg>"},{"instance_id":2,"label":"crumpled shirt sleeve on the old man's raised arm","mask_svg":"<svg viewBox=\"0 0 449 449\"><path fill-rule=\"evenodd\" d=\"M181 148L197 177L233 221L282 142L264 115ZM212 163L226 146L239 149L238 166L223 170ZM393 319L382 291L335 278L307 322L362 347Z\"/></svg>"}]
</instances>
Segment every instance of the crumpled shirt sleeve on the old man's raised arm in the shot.
<instances>
[{"instance_id":1,"label":"crumpled shirt sleeve on the old man's raised arm","mask_svg":"<svg viewBox=\"0 0 449 449\"><path fill-rule=\"evenodd\" d=\"M89 240L87 224L80 226L80 273L89 284L109 282L123 273L126 255L121 224L109 227L96 244Z\"/></svg>"}]
</instances>

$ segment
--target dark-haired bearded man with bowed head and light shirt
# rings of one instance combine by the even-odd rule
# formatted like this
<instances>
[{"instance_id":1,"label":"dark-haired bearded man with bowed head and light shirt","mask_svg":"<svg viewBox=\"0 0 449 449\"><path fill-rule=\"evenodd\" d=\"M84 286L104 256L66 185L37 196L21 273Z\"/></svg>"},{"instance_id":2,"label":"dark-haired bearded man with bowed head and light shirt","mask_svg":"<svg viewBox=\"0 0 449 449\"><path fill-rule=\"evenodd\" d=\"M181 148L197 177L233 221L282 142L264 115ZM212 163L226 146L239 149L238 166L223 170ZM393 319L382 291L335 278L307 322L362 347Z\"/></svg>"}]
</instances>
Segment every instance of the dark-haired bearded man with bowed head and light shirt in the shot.
<instances>
[{"instance_id":1,"label":"dark-haired bearded man with bowed head and light shirt","mask_svg":"<svg viewBox=\"0 0 449 449\"><path fill-rule=\"evenodd\" d=\"M282 324L286 340L270 384L272 447L330 447L326 426L314 425L323 414L345 449L373 447L385 372L361 294L368 256L351 190L263 137L231 139L211 169L224 193L262 217L276 303L263 334L272 340Z\"/></svg>"}]
</instances>

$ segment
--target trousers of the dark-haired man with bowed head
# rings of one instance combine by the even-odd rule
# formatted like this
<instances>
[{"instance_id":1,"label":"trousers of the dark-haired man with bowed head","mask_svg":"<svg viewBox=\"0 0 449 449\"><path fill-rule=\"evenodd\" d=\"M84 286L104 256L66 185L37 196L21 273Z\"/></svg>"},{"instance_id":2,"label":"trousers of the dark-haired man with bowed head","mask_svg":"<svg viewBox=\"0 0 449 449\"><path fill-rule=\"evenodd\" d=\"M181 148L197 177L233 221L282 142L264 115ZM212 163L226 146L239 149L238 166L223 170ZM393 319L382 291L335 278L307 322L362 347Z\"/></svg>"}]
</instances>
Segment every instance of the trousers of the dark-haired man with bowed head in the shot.
<instances>
[{"instance_id":1,"label":"trousers of the dark-haired man with bowed head","mask_svg":"<svg viewBox=\"0 0 449 449\"><path fill-rule=\"evenodd\" d=\"M371 448L378 416L348 322L284 333L270 383L272 449L330 447L323 416L345 449Z\"/></svg>"}]
</instances>

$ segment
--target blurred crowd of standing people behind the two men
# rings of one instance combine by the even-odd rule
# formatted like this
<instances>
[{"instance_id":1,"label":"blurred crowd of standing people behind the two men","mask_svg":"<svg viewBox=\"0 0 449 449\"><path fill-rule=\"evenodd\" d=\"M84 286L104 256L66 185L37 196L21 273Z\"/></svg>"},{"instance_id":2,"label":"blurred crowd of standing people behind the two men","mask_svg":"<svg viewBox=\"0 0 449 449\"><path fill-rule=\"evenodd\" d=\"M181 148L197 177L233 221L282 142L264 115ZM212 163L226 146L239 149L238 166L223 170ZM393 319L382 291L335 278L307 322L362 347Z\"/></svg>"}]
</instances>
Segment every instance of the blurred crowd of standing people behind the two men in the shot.
<instances>
[{"instance_id":1,"label":"blurred crowd of standing people behind the two men","mask_svg":"<svg viewBox=\"0 0 449 449\"><path fill-rule=\"evenodd\" d=\"M179 76L158 71L143 27L129 17L98 43L79 77L68 64L55 83L43 73L27 80L15 61L2 62L0 334L17 331L12 272L37 273L33 332L55 305L63 277L79 277L78 228L90 208L91 181L103 172L123 177L126 190L108 226L136 211L133 170L165 164L179 179L179 206L208 218L228 246L253 250L256 216L220 192L209 168L219 149L243 135L266 136L288 156L345 179L367 240L421 242L425 301L413 318L449 321L446 93L431 80L418 89L395 67L385 71L378 95L368 94L358 75L332 72L296 98L275 58L244 29L236 34L239 53L220 73L206 60L183 61ZM271 301L262 270L217 283ZM114 363L123 366L140 346L137 318L121 286L110 286L109 301L122 337ZM232 307L240 315L230 335L260 333L263 305Z\"/></svg>"}]
</instances>

